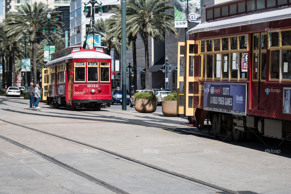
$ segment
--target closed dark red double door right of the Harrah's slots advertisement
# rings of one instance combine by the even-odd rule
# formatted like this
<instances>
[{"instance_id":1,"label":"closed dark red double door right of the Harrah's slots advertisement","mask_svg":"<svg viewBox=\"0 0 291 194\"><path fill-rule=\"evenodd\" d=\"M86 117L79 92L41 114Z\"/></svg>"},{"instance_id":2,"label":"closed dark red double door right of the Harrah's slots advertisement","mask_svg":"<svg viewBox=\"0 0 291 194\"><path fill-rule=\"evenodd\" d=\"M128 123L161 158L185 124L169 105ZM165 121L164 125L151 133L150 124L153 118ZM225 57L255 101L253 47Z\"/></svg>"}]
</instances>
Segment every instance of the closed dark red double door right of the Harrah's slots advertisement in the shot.
<instances>
[{"instance_id":1,"label":"closed dark red double door right of the Harrah's slots advertisement","mask_svg":"<svg viewBox=\"0 0 291 194\"><path fill-rule=\"evenodd\" d=\"M266 106L266 51L267 32L253 34L252 56L252 109L265 110Z\"/></svg>"}]
</instances>

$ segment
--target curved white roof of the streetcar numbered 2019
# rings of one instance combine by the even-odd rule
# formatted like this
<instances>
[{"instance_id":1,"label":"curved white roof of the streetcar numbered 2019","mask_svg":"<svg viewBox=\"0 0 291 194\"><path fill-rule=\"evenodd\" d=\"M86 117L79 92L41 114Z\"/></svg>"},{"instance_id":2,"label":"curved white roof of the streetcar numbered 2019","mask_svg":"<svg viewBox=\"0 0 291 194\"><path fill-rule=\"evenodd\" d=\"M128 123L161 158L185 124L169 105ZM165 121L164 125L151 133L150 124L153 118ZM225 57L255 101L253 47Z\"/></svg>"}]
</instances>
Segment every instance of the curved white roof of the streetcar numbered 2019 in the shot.
<instances>
[{"instance_id":1,"label":"curved white roof of the streetcar numbered 2019","mask_svg":"<svg viewBox=\"0 0 291 194\"><path fill-rule=\"evenodd\" d=\"M73 52L69 55L53 59L46 63L46 65L50 65L52 63L56 63L59 61L63 61L66 59L111 59L110 55L106 55L102 52L95 52L95 51L80 51L80 52Z\"/></svg>"}]
</instances>

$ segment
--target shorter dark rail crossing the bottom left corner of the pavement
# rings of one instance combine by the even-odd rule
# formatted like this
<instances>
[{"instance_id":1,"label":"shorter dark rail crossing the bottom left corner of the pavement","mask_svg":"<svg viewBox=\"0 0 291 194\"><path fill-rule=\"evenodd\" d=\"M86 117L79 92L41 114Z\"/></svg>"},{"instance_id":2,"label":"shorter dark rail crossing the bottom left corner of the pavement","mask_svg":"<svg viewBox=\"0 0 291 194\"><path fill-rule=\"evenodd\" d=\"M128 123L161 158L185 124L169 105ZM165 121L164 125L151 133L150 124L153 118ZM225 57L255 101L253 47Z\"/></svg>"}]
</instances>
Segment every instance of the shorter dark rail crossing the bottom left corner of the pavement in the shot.
<instances>
[{"instance_id":1,"label":"shorter dark rail crossing the bottom left corner of the pavement","mask_svg":"<svg viewBox=\"0 0 291 194\"><path fill-rule=\"evenodd\" d=\"M104 181L102 181L102 180L100 180L100 179L97 179L97 178L95 178L95 177L93 177L93 176L91 176L91 175L89 175L89 174L87 174L87 173L85 173L85 172L82 172L82 171L80 171L80 170L78 170L78 169L75 169L75 168L73 168L72 166L69 166L69 165L67 165L67 164L65 164L65 163L63 163L63 162L61 162L61 161L59 161L59 160L57 160L57 159L55 159L55 158L53 158L53 157L51 157L51 156L48 156L48 155L46 155L46 154L44 154L44 153L42 153L42 152L39 152L39 151L37 151L37 150L35 150L35 149L32 149L32 148L30 148L30 147L28 147L28 146L25 146L25 145L23 145L23 144L21 144L21 143L19 143L19 142L16 142L16 141L14 141L14 140L12 140L12 139L9 139L9 138L7 138L7 137L4 137L4 136L2 136L2 135L0 135L0 138L4 139L4 140L6 140L6 141L8 141L8 142L10 142L10 143L13 143L14 145L16 145L16 146L18 146L18 147L21 147L21 148L23 148L23 149L26 149L26 150L28 150L29 152L32 152L32 153L34 153L34 154L36 154L36 155L38 155L38 156L41 156L42 158L44 158L44 159L46 159L46 160L48 160L48 161L50 161L50 162L53 162L54 164L56 164L56 165L58 165L58 166L60 166L60 167L62 167L62 168L64 168L64 169L67 169L67 170L69 170L69 171L71 171L71 172L74 172L75 174L77 174L77 175L79 175L79 176L82 176L82 177L84 177L85 179L88 179L88 180L90 180L90 181L92 181L92 182L94 182L94 183L96 183L96 184L99 184L99 185L101 185L101 186L104 186L104 187L106 187L107 189L110 189L110 190L112 190L112 191L114 191L114 192L116 192L116 193L120 193L120 194L129 194L128 192L126 192L126 191L124 191L124 190L122 190L122 189L119 189L119 188L117 188L117 187L115 187L115 186L112 186L112 185L110 185L110 184L107 183L107 182L104 182Z\"/></svg>"}]
</instances>

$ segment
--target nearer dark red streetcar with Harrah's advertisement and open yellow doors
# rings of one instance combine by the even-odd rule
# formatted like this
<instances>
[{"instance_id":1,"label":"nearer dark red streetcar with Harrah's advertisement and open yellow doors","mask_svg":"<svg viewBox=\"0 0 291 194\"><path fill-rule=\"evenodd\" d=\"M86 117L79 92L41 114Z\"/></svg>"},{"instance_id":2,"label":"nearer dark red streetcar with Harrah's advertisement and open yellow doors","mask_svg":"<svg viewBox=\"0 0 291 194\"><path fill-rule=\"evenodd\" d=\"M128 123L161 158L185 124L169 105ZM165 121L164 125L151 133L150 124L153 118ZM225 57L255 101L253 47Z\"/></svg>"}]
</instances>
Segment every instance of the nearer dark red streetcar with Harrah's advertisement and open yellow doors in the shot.
<instances>
[{"instance_id":1,"label":"nearer dark red streetcar with Harrah's advertisement and open yellow doors","mask_svg":"<svg viewBox=\"0 0 291 194\"><path fill-rule=\"evenodd\" d=\"M291 140L291 1L258 2L205 7L179 42L177 111L216 136Z\"/></svg>"}]
</instances>

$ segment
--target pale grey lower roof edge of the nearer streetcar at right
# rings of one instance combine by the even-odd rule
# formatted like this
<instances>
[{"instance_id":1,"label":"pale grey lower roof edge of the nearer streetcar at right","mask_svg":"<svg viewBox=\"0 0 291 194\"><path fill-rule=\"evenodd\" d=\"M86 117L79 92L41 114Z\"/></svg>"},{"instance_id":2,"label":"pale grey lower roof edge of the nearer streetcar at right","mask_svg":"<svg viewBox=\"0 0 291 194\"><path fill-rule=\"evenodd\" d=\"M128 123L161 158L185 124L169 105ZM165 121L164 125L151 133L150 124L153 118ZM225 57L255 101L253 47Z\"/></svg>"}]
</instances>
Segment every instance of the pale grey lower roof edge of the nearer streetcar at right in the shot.
<instances>
[{"instance_id":1,"label":"pale grey lower roof edge of the nearer streetcar at right","mask_svg":"<svg viewBox=\"0 0 291 194\"><path fill-rule=\"evenodd\" d=\"M291 18L291 7L282 7L276 10L266 10L256 13L248 13L238 16L233 16L224 19L217 19L209 22L203 22L198 24L194 28L191 28L187 35L197 33L197 32L216 32L216 30L222 28L232 28L237 26L252 25L263 22L270 22L282 19Z\"/></svg>"}]
</instances>

